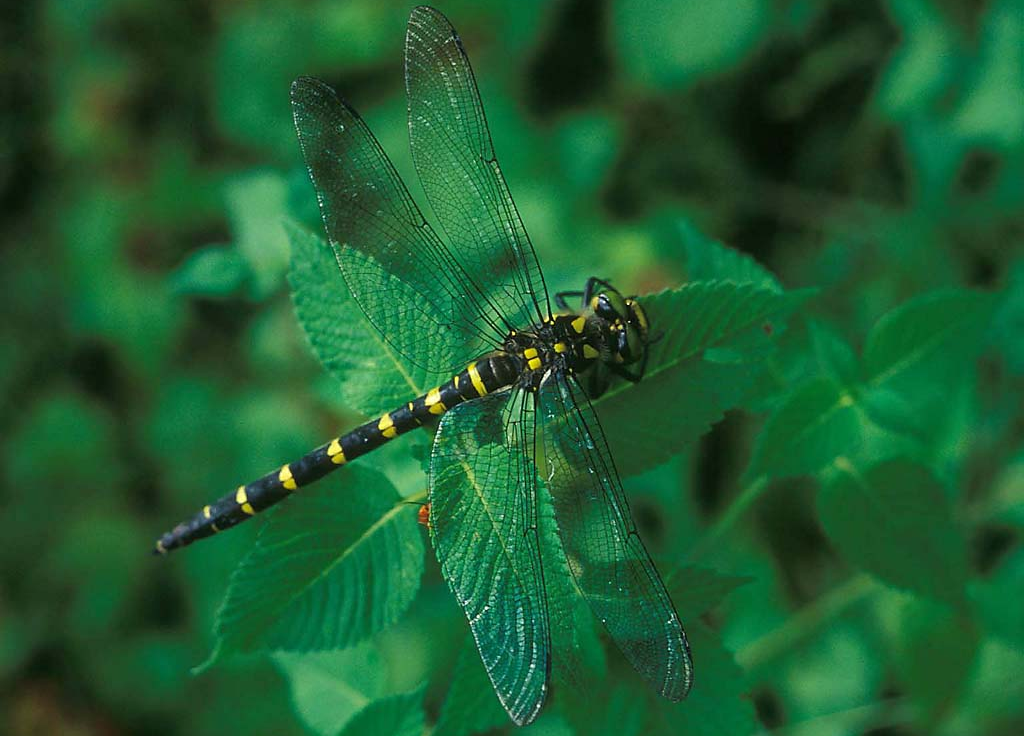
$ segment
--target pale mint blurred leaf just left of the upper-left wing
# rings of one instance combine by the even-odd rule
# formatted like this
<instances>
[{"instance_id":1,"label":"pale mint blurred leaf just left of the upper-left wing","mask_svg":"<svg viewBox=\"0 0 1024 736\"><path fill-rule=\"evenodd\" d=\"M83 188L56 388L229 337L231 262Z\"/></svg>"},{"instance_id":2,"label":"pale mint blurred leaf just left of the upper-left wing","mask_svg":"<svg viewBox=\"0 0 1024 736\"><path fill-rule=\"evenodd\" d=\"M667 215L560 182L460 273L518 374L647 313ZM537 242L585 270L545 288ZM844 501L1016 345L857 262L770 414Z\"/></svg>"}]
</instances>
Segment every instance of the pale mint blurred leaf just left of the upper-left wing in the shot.
<instances>
[{"instance_id":1,"label":"pale mint blurred leaf just left of the upper-left wing","mask_svg":"<svg viewBox=\"0 0 1024 736\"><path fill-rule=\"evenodd\" d=\"M282 227L288 186L278 174L253 173L228 184L226 199L236 247L249 263L256 298L262 299L279 287L288 268Z\"/></svg>"}]
</instances>

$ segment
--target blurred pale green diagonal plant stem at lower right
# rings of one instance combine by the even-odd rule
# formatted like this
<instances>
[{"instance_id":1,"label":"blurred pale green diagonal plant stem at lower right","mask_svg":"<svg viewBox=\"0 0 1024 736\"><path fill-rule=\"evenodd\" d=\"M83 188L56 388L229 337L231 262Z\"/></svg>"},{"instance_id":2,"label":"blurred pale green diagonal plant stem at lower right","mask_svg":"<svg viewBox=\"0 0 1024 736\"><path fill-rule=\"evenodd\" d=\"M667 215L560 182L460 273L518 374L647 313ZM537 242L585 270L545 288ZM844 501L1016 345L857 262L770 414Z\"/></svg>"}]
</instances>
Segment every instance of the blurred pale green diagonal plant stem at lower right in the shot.
<instances>
[{"instance_id":1,"label":"blurred pale green diagonal plant stem at lower right","mask_svg":"<svg viewBox=\"0 0 1024 736\"><path fill-rule=\"evenodd\" d=\"M854 575L786 618L777 629L739 649L736 662L748 674L760 669L877 590L870 575Z\"/></svg>"}]
</instances>

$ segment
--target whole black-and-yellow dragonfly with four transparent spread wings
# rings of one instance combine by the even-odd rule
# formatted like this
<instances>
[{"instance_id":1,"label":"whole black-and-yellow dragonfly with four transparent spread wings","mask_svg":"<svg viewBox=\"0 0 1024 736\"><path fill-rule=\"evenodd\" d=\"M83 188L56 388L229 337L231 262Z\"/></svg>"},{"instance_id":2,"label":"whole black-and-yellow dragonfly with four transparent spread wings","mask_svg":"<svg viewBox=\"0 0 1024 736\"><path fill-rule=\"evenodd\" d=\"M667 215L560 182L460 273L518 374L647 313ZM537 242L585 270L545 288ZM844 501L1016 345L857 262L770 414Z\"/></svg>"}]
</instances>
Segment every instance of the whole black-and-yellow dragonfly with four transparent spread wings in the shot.
<instances>
[{"instance_id":1,"label":"whole black-and-yellow dragonfly with four transparent spread wings","mask_svg":"<svg viewBox=\"0 0 1024 736\"><path fill-rule=\"evenodd\" d=\"M414 165L446 240L327 84L296 80L292 111L345 284L386 343L438 385L203 507L156 552L223 531L399 435L435 428L420 518L512 721L531 723L550 689L544 580L555 561L541 554L541 493L558 562L594 615L657 693L681 700L693 682L686 634L591 404L613 377L643 377L647 314L596 277L555 294L552 309L462 41L429 7L409 19L406 91Z\"/></svg>"}]
</instances>

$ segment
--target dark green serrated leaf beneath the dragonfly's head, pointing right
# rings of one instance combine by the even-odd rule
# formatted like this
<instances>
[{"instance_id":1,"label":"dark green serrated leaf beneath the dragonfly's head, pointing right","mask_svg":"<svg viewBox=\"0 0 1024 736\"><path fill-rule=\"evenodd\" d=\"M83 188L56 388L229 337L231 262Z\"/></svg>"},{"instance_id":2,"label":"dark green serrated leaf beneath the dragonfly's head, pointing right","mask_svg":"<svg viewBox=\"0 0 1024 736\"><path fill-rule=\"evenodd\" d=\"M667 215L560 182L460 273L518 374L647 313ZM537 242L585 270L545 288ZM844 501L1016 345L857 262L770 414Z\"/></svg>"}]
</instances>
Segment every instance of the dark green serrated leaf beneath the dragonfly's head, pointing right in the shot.
<instances>
[{"instance_id":1,"label":"dark green serrated leaf beneath the dragonfly's head, pointing right","mask_svg":"<svg viewBox=\"0 0 1024 736\"><path fill-rule=\"evenodd\" d=\"M753 385L764 351L744 352L743 338L761 334L808 294L778 293L729 282L695 282L643 299L651 329L663 333L651 347L644 380L618 384L595 402L624 476L667 461L736 405ZM766 338L767 339L767 338ZM733 345L729 362L703 357ZM680 410L666 410L667 398ZM637 422L642 417L642 422Z\"/></svg>"}]
</instances>

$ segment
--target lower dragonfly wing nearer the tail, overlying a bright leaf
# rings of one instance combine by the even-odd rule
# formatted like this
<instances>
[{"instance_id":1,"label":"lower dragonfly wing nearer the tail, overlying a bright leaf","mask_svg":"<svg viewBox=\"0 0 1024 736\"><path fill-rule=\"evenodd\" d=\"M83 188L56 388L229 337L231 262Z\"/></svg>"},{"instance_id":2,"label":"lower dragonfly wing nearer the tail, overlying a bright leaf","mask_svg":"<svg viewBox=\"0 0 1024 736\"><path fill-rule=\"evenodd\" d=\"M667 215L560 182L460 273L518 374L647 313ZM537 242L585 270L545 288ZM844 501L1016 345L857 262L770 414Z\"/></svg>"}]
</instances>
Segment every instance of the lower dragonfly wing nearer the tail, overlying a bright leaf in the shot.
<instances>
[{"instance_id":1,"label":"lower dragonfly wing nearer the tail, overlying a bright leaf","mask_svg":"<svg viewBox=\"0 0 1024 736\"><path fill-rule=\"evenodd\" d=\"M537 718L551 672L537 532L534 397L516 390L444 414L430 462L430 525L499 700Z\"/></svg>"}]
</instances>

